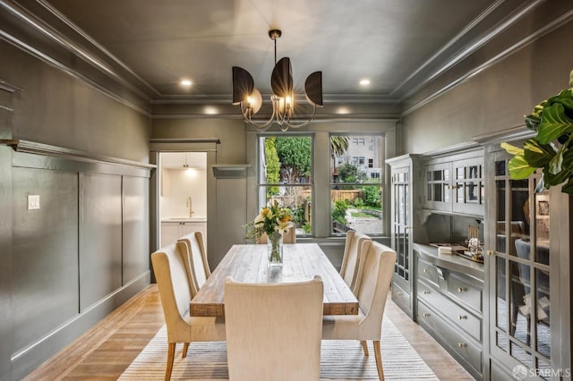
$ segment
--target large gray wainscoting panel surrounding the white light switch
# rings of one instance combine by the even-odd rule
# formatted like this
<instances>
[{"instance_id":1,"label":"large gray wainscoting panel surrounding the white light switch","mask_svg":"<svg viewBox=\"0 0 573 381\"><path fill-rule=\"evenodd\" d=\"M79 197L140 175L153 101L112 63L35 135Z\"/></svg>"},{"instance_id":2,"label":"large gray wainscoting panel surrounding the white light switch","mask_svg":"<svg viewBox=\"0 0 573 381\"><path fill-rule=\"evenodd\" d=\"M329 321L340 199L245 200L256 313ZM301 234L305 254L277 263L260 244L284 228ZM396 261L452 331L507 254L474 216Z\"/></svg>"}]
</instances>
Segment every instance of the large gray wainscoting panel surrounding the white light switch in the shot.
<instances>
[{"instance_id":1,"label":"large gray wainscoting panel surrounding the white light switch","mask_svg":"<svg viewBox=\"0 0 573 381\"><path fill-rule=\"evenodd\" d=\"M78 314L77 253L78 174L15 167L13 356Z\"/></svg>"}]
</instances>

